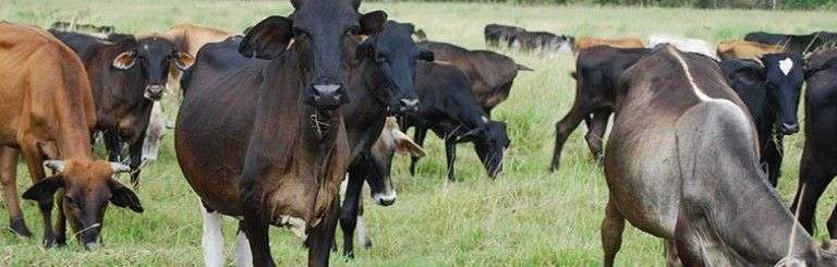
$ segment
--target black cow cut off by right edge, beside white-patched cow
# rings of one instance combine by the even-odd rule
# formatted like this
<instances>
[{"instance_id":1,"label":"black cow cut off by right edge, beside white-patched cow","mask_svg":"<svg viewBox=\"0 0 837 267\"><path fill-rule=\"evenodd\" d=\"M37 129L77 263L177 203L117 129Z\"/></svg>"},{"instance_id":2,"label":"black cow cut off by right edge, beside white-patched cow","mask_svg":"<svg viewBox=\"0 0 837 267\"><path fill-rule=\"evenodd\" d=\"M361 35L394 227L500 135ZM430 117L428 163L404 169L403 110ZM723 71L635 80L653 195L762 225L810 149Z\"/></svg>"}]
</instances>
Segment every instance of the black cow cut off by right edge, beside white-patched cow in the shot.
<instances>
[{"instance_id":1,"label":"black cow cut off by right edge, beside white-patched cow","mask_svg":"<svg viewBox=\"0 0 837 267\"><path fill-rule=\"evenodd\" d=\"M799 165L799 187L791 210L799 207L799 222L814 230L816 203L837 175L837 50L815 54L805 71L805 145ZM828 218L828 233L837 238L837 207Z\"/></svg>"}]
</instances>

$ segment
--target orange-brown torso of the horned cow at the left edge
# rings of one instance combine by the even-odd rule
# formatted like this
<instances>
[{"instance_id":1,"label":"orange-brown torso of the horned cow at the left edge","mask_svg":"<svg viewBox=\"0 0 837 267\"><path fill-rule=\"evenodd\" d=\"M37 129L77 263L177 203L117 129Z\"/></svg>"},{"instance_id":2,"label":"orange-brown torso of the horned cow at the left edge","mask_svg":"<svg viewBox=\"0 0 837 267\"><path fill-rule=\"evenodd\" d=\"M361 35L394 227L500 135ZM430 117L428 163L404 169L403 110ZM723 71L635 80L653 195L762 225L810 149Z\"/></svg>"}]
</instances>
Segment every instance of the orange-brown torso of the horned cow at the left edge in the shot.
<instances>
[{"instance_id":1,"label":"orange-brown torso of the horned cow at the left edge","mask_svg":"<svg viewBox=\"0 0 837 267\"><path fill-rule=\"evenodd\" d=\"M37 138L87 139L96 121L90 86L75 53L49 33L0 23L0 142L17 132ZM59 122L60 120L60 122Z\"/></svg>"}]
</instances>

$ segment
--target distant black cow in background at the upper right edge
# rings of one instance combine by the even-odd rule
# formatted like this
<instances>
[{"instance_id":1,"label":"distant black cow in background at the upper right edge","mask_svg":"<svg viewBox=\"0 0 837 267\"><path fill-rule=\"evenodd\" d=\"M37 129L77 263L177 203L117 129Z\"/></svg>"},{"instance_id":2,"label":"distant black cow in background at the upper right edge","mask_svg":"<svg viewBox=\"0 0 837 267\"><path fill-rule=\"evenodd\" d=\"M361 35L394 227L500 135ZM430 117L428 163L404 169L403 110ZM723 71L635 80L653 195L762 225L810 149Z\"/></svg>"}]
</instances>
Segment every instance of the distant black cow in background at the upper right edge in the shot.
<instances>
[{"instance_id":1,"label":"distant black cow in background at the upper right edge","mask_svg":"<svg viewBox=\"0 0 837 267\"><path fill-rule=\"evenodd\" d=\"M825 47L837 46L837 33L816 32L806 35L749 33L744 40L785 46L786 52L806 53Z\"/></svg>"}]
</instances>

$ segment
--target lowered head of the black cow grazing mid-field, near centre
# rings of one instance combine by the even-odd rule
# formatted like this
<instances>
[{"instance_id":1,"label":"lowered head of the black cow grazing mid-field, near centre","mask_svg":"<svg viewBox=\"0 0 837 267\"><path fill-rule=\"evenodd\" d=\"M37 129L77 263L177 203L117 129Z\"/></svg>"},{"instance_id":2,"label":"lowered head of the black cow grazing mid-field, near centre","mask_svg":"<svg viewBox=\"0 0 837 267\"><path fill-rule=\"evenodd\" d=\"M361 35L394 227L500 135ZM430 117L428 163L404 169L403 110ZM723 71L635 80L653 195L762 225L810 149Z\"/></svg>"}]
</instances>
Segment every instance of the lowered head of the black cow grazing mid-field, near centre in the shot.
<instances>
[{"instance_id":1,"label":"lowered head of the black cow grazing mid-field, near centre","mask_svg":"<svg viewBox=\"0 0 837 267\"><path fill-rule=\"evenodd\" d=\"M488 175L494 178L502 171L502 159L511 141L506 132L506 123L483 118L482 126L463 134L458 142L472 142L476 155L483 161Z\"/></svg>"}]
</instances>

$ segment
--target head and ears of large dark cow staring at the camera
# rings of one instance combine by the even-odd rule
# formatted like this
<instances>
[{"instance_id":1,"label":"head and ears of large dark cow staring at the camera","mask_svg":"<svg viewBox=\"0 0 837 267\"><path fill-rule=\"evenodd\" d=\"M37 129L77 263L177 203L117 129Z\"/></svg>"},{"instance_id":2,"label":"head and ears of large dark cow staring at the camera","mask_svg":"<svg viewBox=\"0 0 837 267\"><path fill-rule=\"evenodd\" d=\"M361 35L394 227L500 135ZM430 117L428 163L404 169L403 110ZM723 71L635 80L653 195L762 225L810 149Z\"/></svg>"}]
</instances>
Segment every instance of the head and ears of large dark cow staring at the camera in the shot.
<instances>
[{"instance_id":1,"label":"head and ears of large dark cow staring at the camera","mask_svg":"<svg viewBox=\"0 0 837 267\"><path fill-rule=\"evenodd\" d=\"M354 51L356 35L384 29L387 14L360 14L360 0L292 0L290 17L270 16L247 32L239 47L244 57L275 59L286 51L296 54L306 104L335 109L349 102L347 54Z\"/></svg>"}]
</instances>

